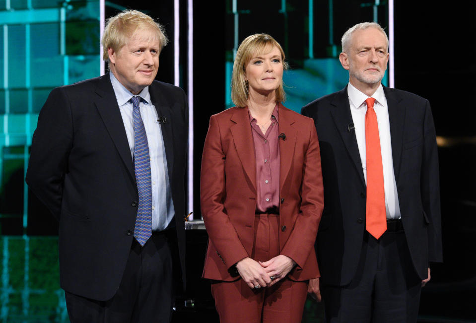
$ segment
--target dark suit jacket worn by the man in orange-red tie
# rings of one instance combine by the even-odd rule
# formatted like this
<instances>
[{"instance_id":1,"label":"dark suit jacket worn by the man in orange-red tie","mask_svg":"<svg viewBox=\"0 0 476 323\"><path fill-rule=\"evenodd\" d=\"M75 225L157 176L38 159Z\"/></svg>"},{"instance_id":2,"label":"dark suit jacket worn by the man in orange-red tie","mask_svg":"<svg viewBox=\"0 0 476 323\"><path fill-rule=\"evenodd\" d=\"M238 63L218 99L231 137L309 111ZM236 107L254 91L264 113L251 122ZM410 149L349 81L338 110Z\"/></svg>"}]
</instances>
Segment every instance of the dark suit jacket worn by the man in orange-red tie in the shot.
<instances>
[{"instance_id":1,"label":"dark suit jacket worn by the man in orange-red tie","mask_svg":"<svg viewBox=\"0 0 476 323\"><path fill-rule=\"evenodd\" d=\"M402 223L411 260L421 279L429 261L442 261L436 134L427 100L384 86L392 158ZM346 285L353 278L365 231L366 186L347 87L305 106L316 123L321 148L324 211L317 236L322 282Z\"/></svg>"}]
</instances>

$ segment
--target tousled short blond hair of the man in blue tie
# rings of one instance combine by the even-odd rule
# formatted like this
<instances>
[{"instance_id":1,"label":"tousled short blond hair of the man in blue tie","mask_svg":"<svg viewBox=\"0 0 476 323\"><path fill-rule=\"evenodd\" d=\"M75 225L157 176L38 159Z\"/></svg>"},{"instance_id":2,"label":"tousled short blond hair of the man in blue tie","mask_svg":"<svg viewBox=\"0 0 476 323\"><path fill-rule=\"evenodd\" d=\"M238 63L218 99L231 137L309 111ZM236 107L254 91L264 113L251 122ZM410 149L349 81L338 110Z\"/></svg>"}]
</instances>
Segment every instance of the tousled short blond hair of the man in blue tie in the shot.
<instances>
[{"instance_id":1,"label":"tousled short blond hair of the man in blue tie","mask_svg":"<svg viewBox=\"0 0 476 323\"><path fill-rule=\"evenodd\" d=\"M115 52L126 45L137 30L149 30L154 40L160 43L160 50L167 45L168 39L161 24L150 16L137 10L124 10L106 22L102 36L103 60L109 61L108 49Z\"/></svg>"}]
</instances>

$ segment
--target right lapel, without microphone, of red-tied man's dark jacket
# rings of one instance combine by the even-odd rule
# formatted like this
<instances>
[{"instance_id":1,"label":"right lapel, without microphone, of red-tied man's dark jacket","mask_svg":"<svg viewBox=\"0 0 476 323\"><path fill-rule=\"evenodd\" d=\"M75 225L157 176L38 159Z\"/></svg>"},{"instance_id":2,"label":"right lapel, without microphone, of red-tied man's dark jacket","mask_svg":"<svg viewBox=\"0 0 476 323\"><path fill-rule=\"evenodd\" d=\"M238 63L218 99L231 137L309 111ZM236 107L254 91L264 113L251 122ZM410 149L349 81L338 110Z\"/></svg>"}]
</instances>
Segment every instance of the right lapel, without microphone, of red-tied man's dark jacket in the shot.
<instances>
[{"instance_id":1,"label":"right lapel, without microphone, of red-tied man's dark jacket","mask_svg":"<svg viewBox=\"0 0 476 323\"><path fill-rule=\"evenodd\" d=\"M392 160L394 164L395 180L398 181L400 174L400 161L402 157L403 134L405 126L406 107L401 106L402 98L395 91L383 87L390 121L390 140L392 142Z\"/></svg>"}]
</instances>

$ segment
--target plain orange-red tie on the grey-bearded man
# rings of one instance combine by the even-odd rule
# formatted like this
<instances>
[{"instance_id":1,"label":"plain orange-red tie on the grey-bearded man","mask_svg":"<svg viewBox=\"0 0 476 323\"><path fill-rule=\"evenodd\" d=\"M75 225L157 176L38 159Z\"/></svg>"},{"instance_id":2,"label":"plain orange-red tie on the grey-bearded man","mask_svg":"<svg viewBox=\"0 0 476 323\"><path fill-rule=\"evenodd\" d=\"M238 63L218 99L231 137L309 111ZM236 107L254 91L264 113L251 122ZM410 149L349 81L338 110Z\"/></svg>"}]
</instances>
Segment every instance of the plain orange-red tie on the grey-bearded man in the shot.
<instances>
[{"instance_id":1,"label":"plain orange-red tie on the grey-bearded man","mask_svg":"<svg viewBox=\"0 0 476 323\"><path fill-rule=\"evenodd\" d=\"M374 98L365 100L365 153L367 160L366 230L376 239L387 230L385 212L384 171L380 151L379 126L374 110Z\"/></svg>"}]
</instances>

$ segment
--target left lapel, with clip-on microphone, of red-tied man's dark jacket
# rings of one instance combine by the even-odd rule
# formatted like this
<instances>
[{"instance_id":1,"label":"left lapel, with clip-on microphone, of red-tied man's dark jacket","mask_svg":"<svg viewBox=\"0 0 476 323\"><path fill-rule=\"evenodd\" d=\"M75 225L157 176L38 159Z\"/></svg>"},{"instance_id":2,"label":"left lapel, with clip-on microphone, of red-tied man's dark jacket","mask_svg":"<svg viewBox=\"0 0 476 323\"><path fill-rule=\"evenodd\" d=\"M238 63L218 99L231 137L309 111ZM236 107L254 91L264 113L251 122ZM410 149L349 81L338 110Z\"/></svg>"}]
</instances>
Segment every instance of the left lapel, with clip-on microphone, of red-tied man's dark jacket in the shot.
<instances>
[{"instance_id":1,"label":"left lapel, with clip-on microphone, of red-tied man's dark jacket","mask_svg":"<svg viewBox=\"0 0 476 323\"><path fill-rule=\"evenodd\" d=\"M359 147L357 145L357 138L355 137L355 130L349 129L353 126L352 115L350 113L349 99L347 95L347 86L339 91L331 104L334 106L331 109L331 114L336 124L337 130L344 142L345 147L349 153L350 159L353 161L356 172L359 174L362 184L365 186L364 172L362 170L362 162L360 160Z\"/></svg>"}]
</instances>

